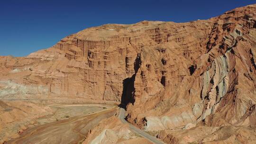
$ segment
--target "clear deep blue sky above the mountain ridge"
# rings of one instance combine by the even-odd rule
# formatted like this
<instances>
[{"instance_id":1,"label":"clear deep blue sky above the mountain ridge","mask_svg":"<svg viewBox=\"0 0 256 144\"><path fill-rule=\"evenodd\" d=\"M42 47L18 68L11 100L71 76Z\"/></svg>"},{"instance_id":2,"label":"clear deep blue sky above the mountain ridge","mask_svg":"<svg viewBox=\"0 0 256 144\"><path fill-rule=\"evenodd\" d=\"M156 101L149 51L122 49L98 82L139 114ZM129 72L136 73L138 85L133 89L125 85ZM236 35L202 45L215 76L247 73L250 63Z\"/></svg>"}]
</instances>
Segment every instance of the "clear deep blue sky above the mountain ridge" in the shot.
<instances>
[{"instance_id":1,"label":"clear deep blue sky above the mountain ridge","mask_svg":"<svg viewBox=\"0 0 256 144\"><path fill-rule=\"evenodd\" d=\"M0 0L0 55L25 56L87 27L208 19L254 3L256 0Z\"/></svg>"}]
</instances>

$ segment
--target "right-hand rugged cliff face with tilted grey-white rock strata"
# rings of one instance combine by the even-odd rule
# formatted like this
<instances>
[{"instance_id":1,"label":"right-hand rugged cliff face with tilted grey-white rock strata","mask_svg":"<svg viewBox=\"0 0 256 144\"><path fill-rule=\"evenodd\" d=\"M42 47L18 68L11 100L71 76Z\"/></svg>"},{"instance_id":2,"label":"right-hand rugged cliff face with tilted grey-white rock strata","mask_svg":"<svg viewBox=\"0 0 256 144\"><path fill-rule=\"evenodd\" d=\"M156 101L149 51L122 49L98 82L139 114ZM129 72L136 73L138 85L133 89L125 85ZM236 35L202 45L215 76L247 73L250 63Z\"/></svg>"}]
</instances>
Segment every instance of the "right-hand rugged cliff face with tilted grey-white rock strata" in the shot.
<instances>
[{"instance_id":1,"label":"right-hand rugged cliff face with tilted grey-white rock strata","mask_svg":"<svg viewBox=\"0 0 256 144\"><path fill-rule=\"evenodd\" d=\"M251 5L207 21L191 22L189 27L196 30L186 32L189 37L169 37L164 43L170 46L167 48L158 44L162 48L158 52L162 77L158 75L155 80L164 88L154 87L153 91L159 92L151 97L146 84L153 74L146 69L148 60L141 58L128 120L146 130L199 121L207 126L255 126L255 14L256 5Z\"/></svg>"}]
</instances>

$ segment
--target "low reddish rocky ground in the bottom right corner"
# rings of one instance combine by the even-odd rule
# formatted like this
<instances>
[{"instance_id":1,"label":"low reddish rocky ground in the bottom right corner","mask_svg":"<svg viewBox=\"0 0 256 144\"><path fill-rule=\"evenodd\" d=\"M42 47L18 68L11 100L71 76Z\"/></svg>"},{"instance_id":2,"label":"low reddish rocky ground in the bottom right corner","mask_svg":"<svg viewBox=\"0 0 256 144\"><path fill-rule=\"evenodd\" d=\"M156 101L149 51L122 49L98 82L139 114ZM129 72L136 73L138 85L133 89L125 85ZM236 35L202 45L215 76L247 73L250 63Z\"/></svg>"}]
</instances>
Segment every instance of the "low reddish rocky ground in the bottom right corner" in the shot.
<instances>
[{"instance_id":1,"label":"low reddish rocky ground in the bottom right corner","mask_svg":"<svg viewBox=\"0 0 256 144\"><path fill-rule=\"evenodd\" d=\"M166 144L254 144L255 128L255 126L197 126L190 130L163 130L157 137Z\"/></svg>"}]
</instances>

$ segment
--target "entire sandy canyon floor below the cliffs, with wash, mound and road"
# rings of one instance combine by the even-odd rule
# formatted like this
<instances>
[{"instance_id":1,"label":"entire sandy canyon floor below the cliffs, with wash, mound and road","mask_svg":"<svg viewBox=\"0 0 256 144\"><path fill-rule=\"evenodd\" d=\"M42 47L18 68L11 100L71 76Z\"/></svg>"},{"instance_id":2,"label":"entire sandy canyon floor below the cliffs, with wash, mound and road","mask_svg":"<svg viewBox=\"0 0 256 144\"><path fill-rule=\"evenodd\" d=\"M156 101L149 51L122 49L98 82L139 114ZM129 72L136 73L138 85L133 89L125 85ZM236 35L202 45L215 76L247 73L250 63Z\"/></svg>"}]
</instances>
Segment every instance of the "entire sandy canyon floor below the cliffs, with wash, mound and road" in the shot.
<instances>
[{"instance_id":1,"label":"entire sandy canyon floor below the cliffs, with wash, mound and road","mask_svg":"<svg viewBox=\"0 0 256 144\"><path fill-rule=\"evenodd\" d=\"M116 102L1 99L0 144L154 144L159 141L124 118L125 110Z\"/></svg>"}]
</instances>

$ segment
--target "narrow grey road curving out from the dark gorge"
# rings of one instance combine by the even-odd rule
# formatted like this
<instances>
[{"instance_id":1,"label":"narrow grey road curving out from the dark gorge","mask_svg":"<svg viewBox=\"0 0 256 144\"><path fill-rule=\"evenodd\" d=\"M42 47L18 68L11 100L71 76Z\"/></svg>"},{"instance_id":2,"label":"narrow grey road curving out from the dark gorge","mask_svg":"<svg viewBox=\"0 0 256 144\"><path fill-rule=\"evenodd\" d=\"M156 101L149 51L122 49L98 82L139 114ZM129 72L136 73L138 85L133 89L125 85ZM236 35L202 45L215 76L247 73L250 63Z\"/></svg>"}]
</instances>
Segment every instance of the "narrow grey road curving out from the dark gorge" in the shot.
<instances>
[{"instance_id":1,"label":"narrow grey road curving out from the dark gorge","mask_svg":"<svg viewBox=\"0 0 256 144\"><path fill-rule=\"evenodd\" d=\"M155 144L165 144L164 142L160 141L159 139L157 139L156 137L152 136L152 135L149 135L147 134L146 132L142 131L141 129L137 128L136 126L133 126L132 124L128 123L126 120L125 120L125 109L124 108L120 108L120 113L119 113L119 119L122 121L122 123L124 124L128 124L129 125L129 128L132 132L142 136L142 137L145 137L147 140L155 143Z\"/></svg>"}]
</instances>

